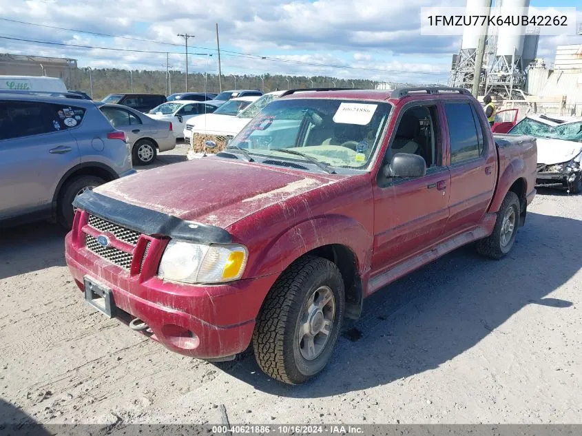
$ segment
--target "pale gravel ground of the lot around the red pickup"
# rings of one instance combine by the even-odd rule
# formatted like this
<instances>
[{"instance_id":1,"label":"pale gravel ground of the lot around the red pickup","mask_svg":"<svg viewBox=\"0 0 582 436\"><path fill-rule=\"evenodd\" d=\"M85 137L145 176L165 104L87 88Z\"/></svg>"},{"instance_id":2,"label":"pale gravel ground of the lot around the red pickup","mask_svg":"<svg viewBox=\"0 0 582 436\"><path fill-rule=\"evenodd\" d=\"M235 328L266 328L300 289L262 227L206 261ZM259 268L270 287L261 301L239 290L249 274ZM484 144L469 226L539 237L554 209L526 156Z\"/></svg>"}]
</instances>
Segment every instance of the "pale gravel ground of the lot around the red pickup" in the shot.
<instances>
[{"instance_id":1,"label":"pale gravel ground of the lot around the red pickup","mask_svg":"<svg viewBox=\"0 0 582 436\"><path fill-rule=\"evenodd\" d=\"M160 155L183 160L187 147ZM331 364L284 386L253 357L166 351L90 309L63 233L0 236L0 422L581 423L582 196L540 190L510 256L464 247L366 300Z\"/></svg>"}]
</instances>

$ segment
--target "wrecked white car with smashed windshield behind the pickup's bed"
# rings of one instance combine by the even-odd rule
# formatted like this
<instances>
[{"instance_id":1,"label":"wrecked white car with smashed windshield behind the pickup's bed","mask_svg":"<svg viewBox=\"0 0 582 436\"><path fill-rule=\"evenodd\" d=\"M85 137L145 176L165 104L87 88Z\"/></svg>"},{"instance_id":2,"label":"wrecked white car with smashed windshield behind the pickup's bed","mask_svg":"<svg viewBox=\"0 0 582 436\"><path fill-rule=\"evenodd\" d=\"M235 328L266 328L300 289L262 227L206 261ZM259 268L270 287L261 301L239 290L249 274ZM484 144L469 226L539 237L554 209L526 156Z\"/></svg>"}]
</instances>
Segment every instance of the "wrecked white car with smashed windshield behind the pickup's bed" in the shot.
<instances>
[{"instance_id":1,"label":"wrecked white car with smashed windshield behind the pickup's bed","mask_svg":"<svg viewBox=\"0 0 582 436\"><path fill-rule=\"evenodd\" d=\"M537 138L537 183L582 192L582 118L528 115L509 134Z\"/></svg>"}]
</instances>

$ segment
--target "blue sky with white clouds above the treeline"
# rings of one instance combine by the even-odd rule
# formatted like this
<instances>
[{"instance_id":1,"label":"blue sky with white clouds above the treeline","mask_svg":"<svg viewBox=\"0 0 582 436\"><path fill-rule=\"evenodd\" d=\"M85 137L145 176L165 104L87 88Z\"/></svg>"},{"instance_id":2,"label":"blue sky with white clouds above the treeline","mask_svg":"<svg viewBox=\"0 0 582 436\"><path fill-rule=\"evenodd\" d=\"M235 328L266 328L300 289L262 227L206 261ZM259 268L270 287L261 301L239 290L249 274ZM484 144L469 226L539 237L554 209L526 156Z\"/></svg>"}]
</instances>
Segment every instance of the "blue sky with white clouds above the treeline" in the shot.
<instances>
[{"instance_id":1,"label":"blue sky with white clouds above the treeline","mask_svg":"<svg viewBox=\"0 0 582 436\"><path fill-rule=\"evenodd\" d=\"M185 70L184 39L177 34L187 33L194 35L188 40L193 53L189 71L216 73L218 23L222 74L445 83L461 37L422 36L420 8L465 4L466 0L0 0L0 53L68 57L81 68L134 70L165 70L169 58L172 70ZM531 6L574 6L582 23L579 0L532 0ZM542 37L538 56L553 61L556 45L563 43L582 43L582 37Z\"/></svg>"}]
</instances>

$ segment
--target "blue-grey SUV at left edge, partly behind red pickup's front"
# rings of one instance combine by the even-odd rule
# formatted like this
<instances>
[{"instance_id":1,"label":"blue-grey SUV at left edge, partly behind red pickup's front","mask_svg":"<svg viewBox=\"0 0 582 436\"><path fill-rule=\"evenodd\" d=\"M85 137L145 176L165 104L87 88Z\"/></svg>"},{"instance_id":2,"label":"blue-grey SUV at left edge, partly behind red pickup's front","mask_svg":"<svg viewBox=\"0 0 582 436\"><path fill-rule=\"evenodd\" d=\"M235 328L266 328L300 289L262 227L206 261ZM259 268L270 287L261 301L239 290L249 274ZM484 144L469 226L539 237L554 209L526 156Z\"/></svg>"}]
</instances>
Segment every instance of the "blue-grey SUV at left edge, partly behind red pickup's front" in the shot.
<instances>
[{"instance_id":1,"label":"blue-grey SUV at left edge, partly behind red pickup's front","mask_svg":"<svg viewBox=\"0 0 582 436\"><path fill-rule=\"evenodd\" d=\"M67 96L0 92L0 228L48 218L70 229L77 195L135 172L125 134Z\"/></svg>"}]
</instances>

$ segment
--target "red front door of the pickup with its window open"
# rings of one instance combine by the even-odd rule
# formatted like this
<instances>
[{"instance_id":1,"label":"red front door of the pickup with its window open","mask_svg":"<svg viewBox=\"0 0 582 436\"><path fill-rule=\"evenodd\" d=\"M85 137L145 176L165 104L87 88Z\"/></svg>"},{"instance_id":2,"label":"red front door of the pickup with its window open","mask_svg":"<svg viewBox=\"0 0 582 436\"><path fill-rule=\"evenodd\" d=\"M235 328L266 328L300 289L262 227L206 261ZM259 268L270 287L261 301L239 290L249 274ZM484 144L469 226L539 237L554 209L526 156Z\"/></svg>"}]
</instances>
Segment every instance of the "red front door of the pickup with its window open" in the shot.
<instances>
[{"instance_id":1,"label":"red front door of the pickup with its window open","mask_svg":"<svg viewBox=\"0 0 582 436\"><path fill-rule=\"evenodd\" d=\"M412 153L424 157L427 170L419 178L386 178L380 171L373 187L373 275L422 253L444 232L450 172L444 165L443 121L438 103L413 103L398 114L383 166L393 154Z\"/></svg>"}]
</instances>

